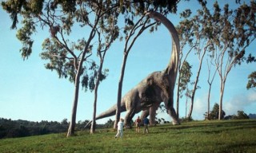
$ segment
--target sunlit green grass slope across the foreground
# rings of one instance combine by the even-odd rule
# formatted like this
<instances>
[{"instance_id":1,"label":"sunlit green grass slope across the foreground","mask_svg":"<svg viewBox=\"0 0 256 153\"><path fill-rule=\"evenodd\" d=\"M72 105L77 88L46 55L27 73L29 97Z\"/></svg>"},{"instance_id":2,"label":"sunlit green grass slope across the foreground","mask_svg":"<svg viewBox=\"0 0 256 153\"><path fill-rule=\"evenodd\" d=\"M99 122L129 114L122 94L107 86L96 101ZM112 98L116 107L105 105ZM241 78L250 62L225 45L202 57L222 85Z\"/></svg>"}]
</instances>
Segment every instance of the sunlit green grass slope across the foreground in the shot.
<instances>
[{"instance_id":1,"label":"sunlit green grass slope across the foreground","mask_svg":"<svg viewBox=\"0 0 256 153\"><path fill-rule=\"evenodd\" d=\"M143 127L142 127L143 128ZM142 131L142 130L141 130ZM256 152L256 120L194 121L150 127L149 134L125 130L79 131L0 139L0 152Z\"/></svg>"}]
</instances>

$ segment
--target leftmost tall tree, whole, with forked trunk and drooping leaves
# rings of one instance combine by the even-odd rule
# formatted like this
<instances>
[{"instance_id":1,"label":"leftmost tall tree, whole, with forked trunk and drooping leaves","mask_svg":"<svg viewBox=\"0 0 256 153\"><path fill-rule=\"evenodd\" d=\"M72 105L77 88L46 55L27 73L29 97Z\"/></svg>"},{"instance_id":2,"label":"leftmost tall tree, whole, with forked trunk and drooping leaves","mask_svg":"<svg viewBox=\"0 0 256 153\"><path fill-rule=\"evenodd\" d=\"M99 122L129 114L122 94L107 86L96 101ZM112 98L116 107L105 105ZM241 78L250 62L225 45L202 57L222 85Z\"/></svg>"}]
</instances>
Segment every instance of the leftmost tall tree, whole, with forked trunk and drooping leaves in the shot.
<instances>
[{"instance_id":1,"label":"leftmost tall tree, whole, with forked trunk and drooping leaves","mask_svg":"<svg viewBox=\"0 0 256 153\"><path fill-rule=\"evenodd\" d=\"M97 65L90 61L93 54L93 40L97 30L104 30L105 22L118 14L112 14L112 8L118 6L111 1L66 1L66 0L8 0L2 2L2 7L10 14L13 20L12 29L16 28L18 16L22 17L22 28L18 29L17 37L22 41L22 57L26 59L32 53L32 39L36 28L49 29L50 37L43 42L41 57L50 62L46 69L55 70L59 77L67 78L74 83L74 101L71 112L70 127L67 136L74 135L76 112L78 106L78 92L82 77L84 88L94 89L94 76L97 76ZM117 24L116 22L113 22ZM112 27L115 27L112 25ZM39 28L38 28L39 29ZM68 39L73 29L90 29L87 37L78 38L77 41ZM98 40L98 39L97 39ZM106 38L98 49L109 49L111 43ZM87 65L84 65L87 63ZM92 73L89 73L89 72Z\"/></svg>"}]
</instances>

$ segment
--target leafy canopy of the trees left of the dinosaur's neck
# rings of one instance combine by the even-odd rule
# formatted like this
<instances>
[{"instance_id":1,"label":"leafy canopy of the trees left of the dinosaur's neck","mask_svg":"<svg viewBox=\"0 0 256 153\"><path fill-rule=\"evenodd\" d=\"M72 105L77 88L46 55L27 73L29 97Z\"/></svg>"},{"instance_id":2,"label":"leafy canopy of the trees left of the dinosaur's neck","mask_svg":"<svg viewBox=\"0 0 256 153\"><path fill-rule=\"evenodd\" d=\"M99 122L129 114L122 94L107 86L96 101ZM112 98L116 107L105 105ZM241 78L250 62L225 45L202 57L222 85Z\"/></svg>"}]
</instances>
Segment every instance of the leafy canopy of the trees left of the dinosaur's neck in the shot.
<instances>
[{"instance_id":1,"label":"leafy canopy of the trees left of the dinosaur's neck","mask_svg":"<svg viewBox=\"0 0 256 153\"><path fill-rule=\"evenodd\" d=\"M58 77L68 78L74 82L76 75L82 77L82 86L92 91L99 73L99 80L106 79L108 69L98 72L99 66L92 60L95 54L101 58L107 49L119 37L121 28L118 26L118 16L125 18L125 33L129 33L135 26L135 18L144 15L145 10L155 8L166 11L176 8L178 1L82 1L82 0L7 0L2 7L13 21L12 29L16 28L18 17L22 18L21 28L17 31L18 40L22 42L23 59L30 56L34 40L32 35L36 27L50 29L51 38L42 43L40 56L46 60L46 69L56 71ZM161 9L160 9L161 8ZM146 18L145 22L147 22ZM147 22L150 24L150 22ZM140 25L142 26L142 25ZM138 26L138 27L140 27ZM91 30L90 37L84 36L77 40L68 37L74 28ZM95 34L97 33L97 34ZM95 36L96 35L96 36ZM94 39L96 38L96 39ZM94 39L94 40L93 40ZM97 41L91 44L91 41ZM97 44L97 43L96 43ZM104 53L104 56L102 54ZM86 56L85 56L86 55ZM85 65L79 67L79 65ZM79 69L78 69L79 68ZM79 72L78 72L79 71Z\"/></svg>"}]
</instances>

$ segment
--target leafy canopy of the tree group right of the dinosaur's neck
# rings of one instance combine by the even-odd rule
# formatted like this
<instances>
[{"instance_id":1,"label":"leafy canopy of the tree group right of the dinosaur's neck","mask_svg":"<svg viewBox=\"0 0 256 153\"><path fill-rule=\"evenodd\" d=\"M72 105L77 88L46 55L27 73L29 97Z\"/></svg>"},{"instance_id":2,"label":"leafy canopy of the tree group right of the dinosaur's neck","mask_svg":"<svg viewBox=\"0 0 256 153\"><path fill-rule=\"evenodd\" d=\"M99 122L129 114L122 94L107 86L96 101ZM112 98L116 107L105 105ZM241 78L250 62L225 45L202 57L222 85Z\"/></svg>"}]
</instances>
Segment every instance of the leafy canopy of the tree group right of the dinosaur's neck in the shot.
<instances>
[{"instance_id":1,"label":"leafy canopy of the tree group right of the dinosaur's neck","mask_svg":"<svg viewBox=\"0 0 256 153\"><path fill-rule=\"evenodd\" d=\"M194 46L200 39L206 40L209 51L225 52L231 65L241 64L245 61L246 47L256 35L255 6L255 2L250 2L250 6L243 4L237 10L229 10L227 4L221 9L215 2L213 11L203 6L193 18L190 10L185 10L181 14L185 19L178 27L182 43Z\"/></svg>"}]
</instances>

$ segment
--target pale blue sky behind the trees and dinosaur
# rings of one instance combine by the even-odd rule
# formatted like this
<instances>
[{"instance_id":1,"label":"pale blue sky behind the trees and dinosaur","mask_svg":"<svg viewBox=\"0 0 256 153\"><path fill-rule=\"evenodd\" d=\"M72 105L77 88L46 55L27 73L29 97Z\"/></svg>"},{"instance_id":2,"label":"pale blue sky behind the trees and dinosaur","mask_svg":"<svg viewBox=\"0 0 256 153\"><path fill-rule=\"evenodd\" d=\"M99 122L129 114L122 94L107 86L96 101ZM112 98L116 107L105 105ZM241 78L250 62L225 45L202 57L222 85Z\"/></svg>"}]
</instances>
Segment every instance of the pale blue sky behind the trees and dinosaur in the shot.
<instances>
[{"instance_id":1,"label":"pale blue sky behind the trees and dinosaur","mask_svg":"<svg viewBox=\"0 0 256 153\"><path fill-rule=\"evenodd\" d=\"M196 10L198 4L196 1L181 2L178 4L178 10L184 10L187 6ZM232 3L230 6L235 5ZM2 19L0 22L0 118L59 122L63 119L70 120L74 84L71 84L69 80L59 79L56 72L45 69L46 61L42 61L39 57L42 52L42 41L50 36L48 29L38 29L38 33L33 36L35 40L33 53L24 61L19 53L22 44L16 37L16 30L10 29L10 17L2 10L2 7L0 8L0 18ZM179 14L170 14L168 18L174 23L174 26L178 25ZM74 30L71 35L74 37L88 35L88 33ZM123 46L123 42L116 41L106 54L104 68L109 69L110 72L98 88L97 114L116 104ZM248 50L253 50L255 47L256 41L250 45ZM165 69L170 60L170 50L171 37L164 26L158 27L154 33L144 32L130 51L123 80L122 95L125 95L150 73ZM191 79L194 80L198 69L198 60L191 58L189 62L193 66L192 73L194 75ZM256 92L246 89L247 77L256 70L255 68L255 63L251 65L244 63L231 70L223 97L223 110L226 115L234 115L238 110L247 114L256 113ZM203 114L207 111L208 84L206 79L206 62L204 62L198 83L201 88L196 92L194 99L194 111L192 113L194 120L203 120ZM210 108L219 101L219 84L217 75L210 96ZM174 100L176 100L176 96L174 96ZM92 119L93 101L93 92L80 90L77 122ZM190 106L190 101L188 104ZM122 116L124 117L125 114L125 112L122 113ZM184 117L186 114L185 98L180 99L179 114L180 117ZM159 112L157 117L171 120L165 112ZM104 124L109 119L114 120L114 116L98 120L98 123Z\"/></svg>"}]
</instances>

